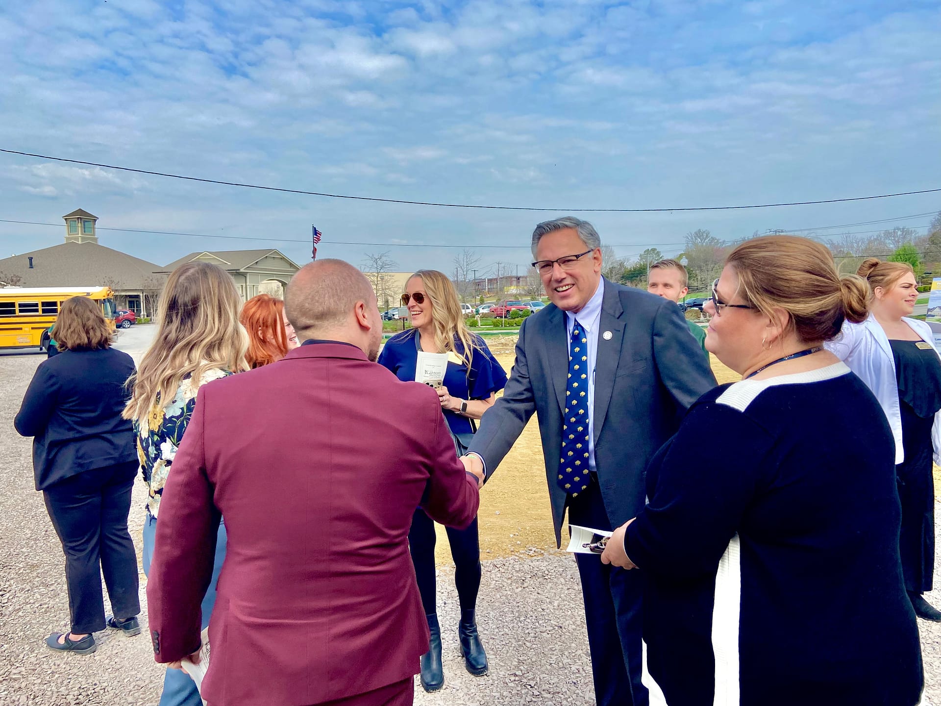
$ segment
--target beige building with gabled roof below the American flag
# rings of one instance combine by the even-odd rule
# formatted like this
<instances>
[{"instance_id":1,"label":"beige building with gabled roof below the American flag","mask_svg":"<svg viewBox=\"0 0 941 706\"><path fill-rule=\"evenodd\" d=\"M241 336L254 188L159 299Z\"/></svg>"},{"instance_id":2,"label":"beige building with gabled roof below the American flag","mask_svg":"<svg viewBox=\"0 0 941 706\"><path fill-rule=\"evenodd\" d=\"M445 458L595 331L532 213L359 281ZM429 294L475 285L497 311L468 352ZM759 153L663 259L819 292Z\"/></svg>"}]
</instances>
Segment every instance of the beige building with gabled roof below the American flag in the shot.
<instances>
[{"instance_id":1,"label":"beige building with gabled roof below the American flag","mask_svg":"<svg viewBox=\"0 0 941 706\"><path fill-rule=\"evenodd\" d=\"M169 273L180 265L197 260L219 265L228 272L243 301L262 293L284 297L284 287L300 269L293 260L275 249L191 252L160 269Z\"/></svg>"}]
</instances>

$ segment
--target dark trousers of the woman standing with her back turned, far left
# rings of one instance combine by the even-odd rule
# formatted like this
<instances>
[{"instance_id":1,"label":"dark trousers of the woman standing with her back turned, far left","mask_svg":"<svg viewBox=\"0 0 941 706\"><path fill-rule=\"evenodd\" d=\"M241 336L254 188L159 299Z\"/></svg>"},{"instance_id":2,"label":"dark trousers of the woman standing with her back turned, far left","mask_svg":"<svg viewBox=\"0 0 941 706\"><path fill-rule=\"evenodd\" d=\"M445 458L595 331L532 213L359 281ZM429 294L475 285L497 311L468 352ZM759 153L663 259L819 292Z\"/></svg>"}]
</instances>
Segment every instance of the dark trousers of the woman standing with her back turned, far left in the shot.
<instances>
[{"instance_id":1,"label":"dark trousers of the woman standing with her back turned, far left","mask_svg":"<svg viewBox=\"0 0 941 706\"><path fill-rule=\"evenodd\" d=\"M115 618L140 613L137 554L127 529L138 462L76 473L42 491L65 552L72 633L104 630L102 573Z\"/></svg>"}]
</instances>

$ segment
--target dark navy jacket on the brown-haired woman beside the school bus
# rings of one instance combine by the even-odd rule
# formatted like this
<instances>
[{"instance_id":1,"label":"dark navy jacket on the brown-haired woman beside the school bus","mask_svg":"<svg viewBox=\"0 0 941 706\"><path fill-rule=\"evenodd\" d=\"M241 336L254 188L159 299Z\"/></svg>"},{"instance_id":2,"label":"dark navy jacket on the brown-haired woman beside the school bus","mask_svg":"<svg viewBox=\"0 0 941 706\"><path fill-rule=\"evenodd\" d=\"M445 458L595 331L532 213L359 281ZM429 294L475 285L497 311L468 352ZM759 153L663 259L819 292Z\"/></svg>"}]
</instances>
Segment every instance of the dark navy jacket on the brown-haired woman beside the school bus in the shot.
<instances>
[{"instance_id":1,"label":"dark navy jacket on the brown-haired woman beside the school bus","mask_svg":"<svg viewBox=\"0 0 941 706\"><path fill-rule=\"evenodd\" d=\"M137 458L134 428L120 413L134 360L114 348L67 350L40 362L13 425L33 440L41 490L76 473Z\"/></svg>"}]
</instances>

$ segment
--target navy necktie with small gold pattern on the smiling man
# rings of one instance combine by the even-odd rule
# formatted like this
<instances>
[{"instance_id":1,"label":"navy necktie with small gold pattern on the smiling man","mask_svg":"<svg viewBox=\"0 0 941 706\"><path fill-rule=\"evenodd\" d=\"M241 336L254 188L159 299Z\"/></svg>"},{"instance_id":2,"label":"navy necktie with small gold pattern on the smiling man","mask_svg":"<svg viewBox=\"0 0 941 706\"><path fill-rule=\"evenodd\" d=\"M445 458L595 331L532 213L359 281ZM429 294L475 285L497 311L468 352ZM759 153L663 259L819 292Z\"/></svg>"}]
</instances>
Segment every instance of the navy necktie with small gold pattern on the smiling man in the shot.
<instances>
[{"instance_id":1,"label":"navy necktie with small gold pattern on the smiling man","mask_svg":"<svg viewBox=\"0 0 941 706\"><path fill-rule=\"evenodd\" d=\"M566 415L562 423L559 488L573 498L588 488L588 339L578 319L568 344Z\"/></svg>"}]
</instances>

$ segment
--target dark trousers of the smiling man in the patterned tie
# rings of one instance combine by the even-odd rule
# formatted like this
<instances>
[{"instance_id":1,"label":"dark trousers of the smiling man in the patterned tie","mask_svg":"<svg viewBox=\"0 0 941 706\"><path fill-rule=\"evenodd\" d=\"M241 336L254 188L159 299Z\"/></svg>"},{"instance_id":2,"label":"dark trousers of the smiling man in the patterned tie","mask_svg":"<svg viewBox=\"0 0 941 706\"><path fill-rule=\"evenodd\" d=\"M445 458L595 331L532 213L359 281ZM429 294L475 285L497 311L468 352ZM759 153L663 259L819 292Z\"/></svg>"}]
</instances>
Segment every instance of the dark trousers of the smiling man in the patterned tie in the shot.
<instances>
[{"instance_id":1,"label":"dark trousers of the smiling man in the patterned tie","mask_svg":"<svg viewBox=\"0 0 941 706\"><path fill-rule=\"evenodd\" d=\"M569 497L568 521L614 529L597 479L578 497ZM598 706L646 706L649 698L641 683L644 579L638 570L602 564L598 554L575 554L575 562L582 579L595 700Z\"/></svg>"}]
</instances>

